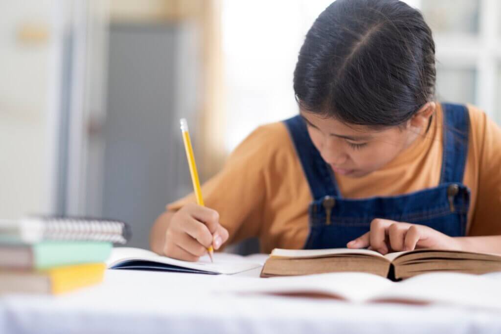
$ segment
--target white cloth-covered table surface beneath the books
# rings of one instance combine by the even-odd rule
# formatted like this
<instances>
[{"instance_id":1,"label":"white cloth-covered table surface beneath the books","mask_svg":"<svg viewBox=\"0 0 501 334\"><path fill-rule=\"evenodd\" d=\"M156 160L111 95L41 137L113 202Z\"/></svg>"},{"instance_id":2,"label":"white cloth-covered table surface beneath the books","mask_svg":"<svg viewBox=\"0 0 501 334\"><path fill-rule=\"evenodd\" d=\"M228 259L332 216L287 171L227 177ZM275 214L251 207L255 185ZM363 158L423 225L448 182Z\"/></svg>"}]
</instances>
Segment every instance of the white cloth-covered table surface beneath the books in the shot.
<instances>
[{"instance_id":1,"label":"white cloth-covered table surface beneath the books","mask_svg":"<svg viewBox=\"0 0 501 334\"><path fill-rule=\"evenodd\" d=\"M228 279L241 278L107 270L73 293L0 297L0 333L501 332L495 311L208 292Z\"/></svg>"}]
</instances>

